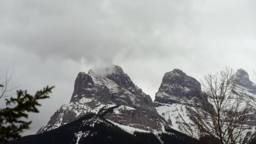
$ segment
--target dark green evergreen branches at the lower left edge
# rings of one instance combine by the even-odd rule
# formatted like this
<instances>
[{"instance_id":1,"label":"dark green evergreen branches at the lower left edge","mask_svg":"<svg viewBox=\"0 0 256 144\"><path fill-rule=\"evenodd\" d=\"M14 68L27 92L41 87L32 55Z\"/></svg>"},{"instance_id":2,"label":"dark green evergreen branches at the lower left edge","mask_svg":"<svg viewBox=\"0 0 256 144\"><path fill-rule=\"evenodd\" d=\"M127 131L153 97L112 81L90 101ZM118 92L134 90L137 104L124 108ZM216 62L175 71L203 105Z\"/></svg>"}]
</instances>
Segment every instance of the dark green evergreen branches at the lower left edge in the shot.
<instances>
[{"instance_id":1,"label":"dark green evergreen branches at the lower left edge","mask_svg":"<svg viewBox=\"0 0 256 144\"><path fill-rule=\"evenodd\" d=\"M3 89L6 85L0 85L0 87ZM38 100L49 98L53 88L53 86L47 86L37 91L35 95L19 90L16 91L16 98L5 99L6 107L0 109L0 144L19 139L20 133L29 129L32 121L24 121L24 118L28 117L29 112L39 112L37 108L41 104Z\"/></svg>"}]
</instances>

